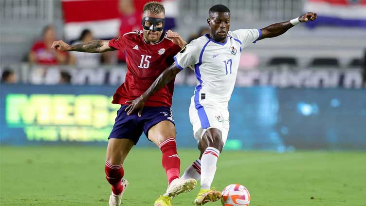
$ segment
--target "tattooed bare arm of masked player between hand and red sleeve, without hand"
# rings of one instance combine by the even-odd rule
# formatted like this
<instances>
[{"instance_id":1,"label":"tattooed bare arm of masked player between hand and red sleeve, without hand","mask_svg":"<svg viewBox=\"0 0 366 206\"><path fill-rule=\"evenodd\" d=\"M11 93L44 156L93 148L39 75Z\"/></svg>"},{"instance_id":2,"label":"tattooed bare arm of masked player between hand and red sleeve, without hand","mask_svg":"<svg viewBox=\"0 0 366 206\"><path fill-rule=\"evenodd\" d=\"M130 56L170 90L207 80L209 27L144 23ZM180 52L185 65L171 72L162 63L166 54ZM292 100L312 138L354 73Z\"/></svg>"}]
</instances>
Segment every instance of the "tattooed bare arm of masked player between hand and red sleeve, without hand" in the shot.
<instances>
[{"instance_id":1,"label":"tattooed bare arm of masked player between hand and red sleeve, without hand","mask_svg":"<svg viewBox=\"0 0 366 206\"><path fill-rule=\"evenodd\" d=\"M102 53L113 50L108 46L108 41L105 40L92 40L87 43L71 45L71 51L76 52Z\"/></svg>"}]
</instances>

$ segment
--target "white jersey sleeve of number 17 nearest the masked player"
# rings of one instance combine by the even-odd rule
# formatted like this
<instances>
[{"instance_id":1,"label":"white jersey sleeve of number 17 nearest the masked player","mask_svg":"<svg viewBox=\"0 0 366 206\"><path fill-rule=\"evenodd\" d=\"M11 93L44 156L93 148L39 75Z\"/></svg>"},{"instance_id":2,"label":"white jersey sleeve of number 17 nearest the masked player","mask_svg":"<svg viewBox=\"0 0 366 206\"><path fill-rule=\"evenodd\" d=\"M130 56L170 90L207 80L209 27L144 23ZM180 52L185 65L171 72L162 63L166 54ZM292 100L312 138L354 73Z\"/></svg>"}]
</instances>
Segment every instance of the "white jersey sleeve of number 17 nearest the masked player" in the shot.
<instances>
[{"instance_id":1,"label":"white jersey sleeve of number 17 nearest the masked player","mask_svg":"<svg viewBox=\"0 0 366 206\"><path fill-rule=\"evenodd\" d=\"M199 62L200 50L197 40L187 44L176 56L174 56L175 65L183 70Z\"/></svg>"}]
</instances>

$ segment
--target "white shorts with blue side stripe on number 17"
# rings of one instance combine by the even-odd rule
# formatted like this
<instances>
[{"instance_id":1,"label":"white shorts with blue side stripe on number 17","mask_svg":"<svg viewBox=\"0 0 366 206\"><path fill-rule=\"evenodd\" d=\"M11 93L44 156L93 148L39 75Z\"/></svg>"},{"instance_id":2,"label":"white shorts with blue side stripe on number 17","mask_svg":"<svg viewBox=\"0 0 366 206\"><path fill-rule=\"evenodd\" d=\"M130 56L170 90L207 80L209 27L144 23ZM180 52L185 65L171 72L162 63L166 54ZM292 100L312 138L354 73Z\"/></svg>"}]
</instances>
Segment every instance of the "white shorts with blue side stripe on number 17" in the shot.
<instances>
[{"instance_id":1,"label":"white shorts with blue side stripe on number 17","mask_svg":"<svg viewBox=\"0 0 366 206\"><path fill-rule=\"evenodd\" d=\"M221 131L222 142L225 144L230 128L229 111L227 107L220 108L212 103L206 99L200 100L199 105L195 105L194 101L191 102L189 119L193 126L193 135L195 139L201 141L203 134L208 129L216 128Z\"/></svg>"}]
</instances>

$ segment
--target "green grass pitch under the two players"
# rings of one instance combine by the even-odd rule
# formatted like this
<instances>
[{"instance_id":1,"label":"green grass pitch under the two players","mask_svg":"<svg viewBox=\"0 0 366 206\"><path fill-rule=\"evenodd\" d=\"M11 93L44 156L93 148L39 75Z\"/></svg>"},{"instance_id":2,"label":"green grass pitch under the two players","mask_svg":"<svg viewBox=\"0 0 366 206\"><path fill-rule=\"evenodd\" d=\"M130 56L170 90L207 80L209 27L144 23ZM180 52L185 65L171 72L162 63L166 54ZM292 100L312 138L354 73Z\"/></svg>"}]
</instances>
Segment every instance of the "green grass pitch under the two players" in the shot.
<instances>
[{"instance_id":1,"label":"green grass pitch under the two players","mask_svg":"<svg viewBox=\"0 0 366 206\"><path fill-rule=\"evenodd\" d=\"M0 147L1 206L108 206L104 147ZM198 150L179 150L182 170ZM152 206L167 186L161 152L133 149L124 206ZM251 206L366 206L366 152L224 151L213 186L239 183ZM173 206L192 206L198 188ZM220 202L207 206L220 206Z\"/></svg>"}]
</instances>

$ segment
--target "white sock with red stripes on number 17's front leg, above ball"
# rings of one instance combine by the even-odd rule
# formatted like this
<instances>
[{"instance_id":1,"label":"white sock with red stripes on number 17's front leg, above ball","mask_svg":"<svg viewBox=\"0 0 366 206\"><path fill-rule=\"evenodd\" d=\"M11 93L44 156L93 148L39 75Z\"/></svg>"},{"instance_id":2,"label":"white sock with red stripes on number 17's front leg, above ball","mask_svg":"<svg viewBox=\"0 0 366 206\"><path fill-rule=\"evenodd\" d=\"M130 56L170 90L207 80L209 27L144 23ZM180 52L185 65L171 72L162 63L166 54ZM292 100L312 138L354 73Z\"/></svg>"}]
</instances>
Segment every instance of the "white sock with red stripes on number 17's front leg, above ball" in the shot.
<instances>
[{"instance_id":1,"label":"white sock with red stripes on number 17's front leg, above ball","mask_svg":"<svg viewBox=\"0 0 366 206\"><path fill-rule=\"evenodd\" d=\"M210 189L216 172L216 164L220 151L208 147L201 158L201 189Z\"/></svg>"}]
</instances>

